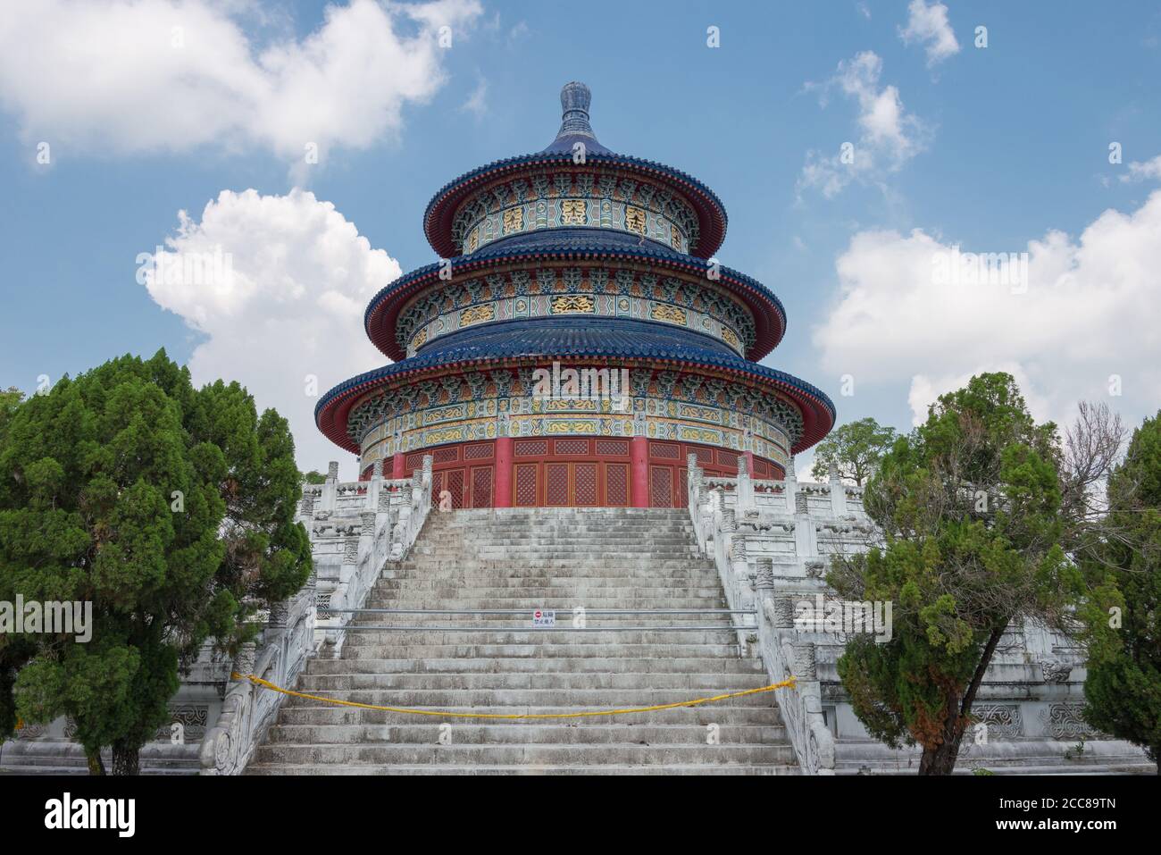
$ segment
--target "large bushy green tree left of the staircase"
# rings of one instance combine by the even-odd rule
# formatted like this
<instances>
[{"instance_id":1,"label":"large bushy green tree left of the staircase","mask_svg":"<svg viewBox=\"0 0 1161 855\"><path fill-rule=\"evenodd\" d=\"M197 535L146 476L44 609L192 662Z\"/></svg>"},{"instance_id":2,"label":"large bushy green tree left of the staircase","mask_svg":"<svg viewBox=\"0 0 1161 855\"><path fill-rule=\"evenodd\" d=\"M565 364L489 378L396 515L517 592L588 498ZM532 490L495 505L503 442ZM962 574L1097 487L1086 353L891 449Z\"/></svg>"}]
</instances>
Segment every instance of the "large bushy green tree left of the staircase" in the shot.
<instances>
[{"instance_id":1,"label":"large bushy green tree left of the staircase","mask_svg":"<svg viewBox=\"0 0 1161 855\"><path fill-rule=\"evenodd\" d=\"M310 573L287 423L237 383L195 389L159 351L110 360L21 404L0 439L0 585L92 602L92 640L38 635L6 704L77 724L94 773L136 774L179 668ZM0 689L3 687L0 685Z\"/></svg>"}]
</instances>

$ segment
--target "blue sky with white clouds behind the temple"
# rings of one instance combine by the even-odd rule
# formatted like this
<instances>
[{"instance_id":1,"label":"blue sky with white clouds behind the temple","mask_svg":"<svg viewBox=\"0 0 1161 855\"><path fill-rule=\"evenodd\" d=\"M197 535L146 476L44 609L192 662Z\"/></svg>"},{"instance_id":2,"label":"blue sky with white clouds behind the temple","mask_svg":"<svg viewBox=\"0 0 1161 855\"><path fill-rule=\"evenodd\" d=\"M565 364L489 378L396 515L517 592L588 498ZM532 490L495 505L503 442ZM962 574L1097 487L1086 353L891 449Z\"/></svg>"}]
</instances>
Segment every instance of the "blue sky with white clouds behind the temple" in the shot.
<instances>
[{"instance_id":1,"label":"blue sky with white clouds behind the temple","mask_svg":"<svg viewBox=\"0 0 1161 855\"><path fill-rule=\"evenodd\" d=\"M277 405L301 465L341 457L353 476L353 459L304 436L313 398L288 388L303 372L325 390L382 364L362 296L434 260L420 230L432 193L547 145L560 87L579 79L606 146L716 191L729 213L719 258L789 316L764 361L828 391L841 421L909 427L933 394L995 367L1016 372L1041 418L1112 387L1133 423L1161 404L1155 2L358 0L327 15L316 2L93 0L91 20L68 2L30 6L0 23L0 386L31 391L39 375L164 346L195 376L237 378ZM452 46L432 46L444 22ZM175 59L157 46L173 27ZM363 67L345 69L348 53ZM302 163L301 139L323 141L318 164ZM853 165L832 159L844 142ZM264 257L269 235L288 251ZM138 254L175 236L224 244L253 295L202 303L140 285ZM1029 251L1027 293L932 296L931 253L957 245ZM336 268L345 279L330 287ZM307 347L294 331L310 329L316 297L334 310ZM276 330L264 301L284 317Z\"/></svg>"}]
</instances>

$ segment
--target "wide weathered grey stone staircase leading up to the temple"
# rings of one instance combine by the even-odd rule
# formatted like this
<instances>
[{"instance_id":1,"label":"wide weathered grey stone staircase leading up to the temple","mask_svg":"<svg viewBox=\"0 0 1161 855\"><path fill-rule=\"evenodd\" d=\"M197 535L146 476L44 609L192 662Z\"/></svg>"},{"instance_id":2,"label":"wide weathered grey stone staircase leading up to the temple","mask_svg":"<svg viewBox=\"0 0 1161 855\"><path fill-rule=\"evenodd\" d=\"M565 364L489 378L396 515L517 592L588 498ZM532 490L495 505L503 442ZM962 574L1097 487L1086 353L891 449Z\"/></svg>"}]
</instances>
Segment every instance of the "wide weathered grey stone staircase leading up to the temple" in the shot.
<instances>
[{"instance_id":1,"label":"wide weathered grey stone staircase leading up to the temple","mask_svg":"<svg viewBox=\"0 0 1161 855\"><path fill-rule=\"evenodd\" d=\"M363 615L339 659L297 687L360 703L535 713L649 706L766 685L726 615L587 616L599 632L532 627L555 609L721 609L688 512L504 509L433 512L366 608L519 609L518 615ZM483 627L447 632L433 625ZM664 627L706 627L675 631ZM510 628L512 627L512 628ZM657 628L652 628L657 627ZM287 698L247 768L316 774L796 774L776 692L697 707L549 721L478 721ZM441 735L444 741L441 742Z\"/></svg>"}]
</instances>

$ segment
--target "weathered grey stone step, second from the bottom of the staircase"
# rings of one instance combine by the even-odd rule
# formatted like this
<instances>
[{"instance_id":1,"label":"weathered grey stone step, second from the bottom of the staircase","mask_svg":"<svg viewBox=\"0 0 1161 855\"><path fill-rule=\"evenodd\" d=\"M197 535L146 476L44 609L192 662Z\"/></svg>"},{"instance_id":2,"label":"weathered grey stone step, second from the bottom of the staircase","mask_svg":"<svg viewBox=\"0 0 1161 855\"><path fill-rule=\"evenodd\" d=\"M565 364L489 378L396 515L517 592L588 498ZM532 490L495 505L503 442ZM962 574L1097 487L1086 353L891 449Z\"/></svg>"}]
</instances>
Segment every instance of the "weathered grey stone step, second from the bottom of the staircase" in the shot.
<instances>
[{"instance_id":1,"label":"weathered grey stone step, second from the bottom of the staircase","mask_svg":"<svg viewBox=\"0 0 1161 855\"><path fill-rule=\"evenodd\" d=\"M258 763L445 764L479 766L543 763L587 766L593 763L639 766L688 766L694 763L792 763L794 753L781 745L680 745L658 746L632 742L607 745L283 745L264 743L254 755Z\"/></svg>"}]
</instances>

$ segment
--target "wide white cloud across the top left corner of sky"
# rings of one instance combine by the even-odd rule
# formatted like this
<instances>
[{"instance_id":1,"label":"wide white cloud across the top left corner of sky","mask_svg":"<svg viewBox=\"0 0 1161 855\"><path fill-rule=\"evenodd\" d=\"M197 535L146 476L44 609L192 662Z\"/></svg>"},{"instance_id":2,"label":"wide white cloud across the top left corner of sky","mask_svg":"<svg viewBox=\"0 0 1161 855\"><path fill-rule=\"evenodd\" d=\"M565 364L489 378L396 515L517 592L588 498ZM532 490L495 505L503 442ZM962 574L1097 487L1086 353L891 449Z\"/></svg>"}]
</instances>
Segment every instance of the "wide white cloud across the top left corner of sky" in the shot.
<instances>
[{"instance_id":1,"label":"wide white cloud across the top left corner of sky","mask_svg":"<svg viewBox=\"0 0 1161 855\"><path fill-rule=\"evenodd\" d=\"M397 134L444 84L439 27L478 0L327 6L304 38L255 44L248 3L37 0L0 15L0 106L26 142L95 153L260 146L302 161ZM281 31L281 28L280 28ZM265 31L264 31L265 33ZM265 33L269 36L268 33Z\"/></svg>"}]
</instances>

